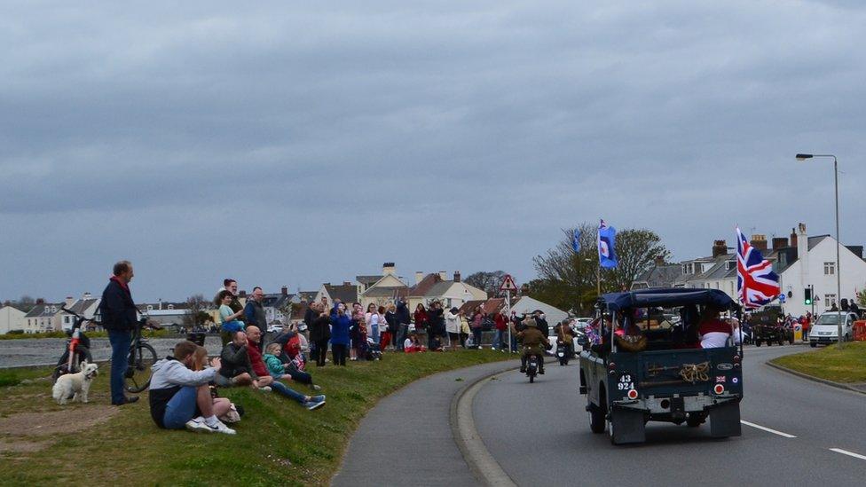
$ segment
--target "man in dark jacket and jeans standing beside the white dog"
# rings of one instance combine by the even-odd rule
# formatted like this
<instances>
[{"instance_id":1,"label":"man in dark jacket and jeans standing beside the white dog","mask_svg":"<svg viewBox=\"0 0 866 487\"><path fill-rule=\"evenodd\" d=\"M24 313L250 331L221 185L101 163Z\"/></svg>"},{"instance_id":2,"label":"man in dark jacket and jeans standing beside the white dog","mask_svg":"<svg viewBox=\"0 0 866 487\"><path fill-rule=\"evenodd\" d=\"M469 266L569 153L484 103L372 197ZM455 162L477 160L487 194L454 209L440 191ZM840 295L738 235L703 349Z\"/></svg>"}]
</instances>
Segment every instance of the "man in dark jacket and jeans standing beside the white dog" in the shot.
<instances>
[{"instance_id":1,"label":"man in dark jacket and jeans standing beside the white dog","mask_svg":"<svg viewBox=\"0 0 866 487\"><path fill-rule=\"evenodd\" d=\"M138 396L126 397L123 392L123 376L129 365L132 340L130 332L138 321L138 310L130 293L130 281L134 275L132 263L115 263L113 273L102 292L99 313L102 327L108 332L108 342L111 342L111 404L127 405L138 401Z\"/></svg>"}]
</instances>

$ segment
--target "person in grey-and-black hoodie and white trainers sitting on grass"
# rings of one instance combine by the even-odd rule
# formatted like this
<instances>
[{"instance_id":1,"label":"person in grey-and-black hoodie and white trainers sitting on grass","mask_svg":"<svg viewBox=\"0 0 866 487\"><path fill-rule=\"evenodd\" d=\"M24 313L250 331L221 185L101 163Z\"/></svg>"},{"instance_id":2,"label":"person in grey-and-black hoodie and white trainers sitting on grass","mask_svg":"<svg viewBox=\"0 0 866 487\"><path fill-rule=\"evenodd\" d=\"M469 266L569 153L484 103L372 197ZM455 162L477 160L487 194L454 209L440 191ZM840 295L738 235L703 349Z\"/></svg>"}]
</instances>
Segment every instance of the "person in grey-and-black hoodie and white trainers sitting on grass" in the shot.
<instances>
[{"instance_id":1,"label":"person in grey-and-black hoodie and white trainers sitting on grass","mask_svg":"<svg viewBox=\"0 0 866 487\"><path fill-rule=\"evenodd\" d=\"M221 369L220 359L212 359L209 368L193 371L199 368L195 364L198 349L202 347L193 342L177 343L171 357L151 366L151 417L160 428L234 435L232 428L217 419L232 409L232 403L224 397L211 397L208 387ZM207 359L207 353L203 355L202 362Z\"/></svg>"}]
</instances>

